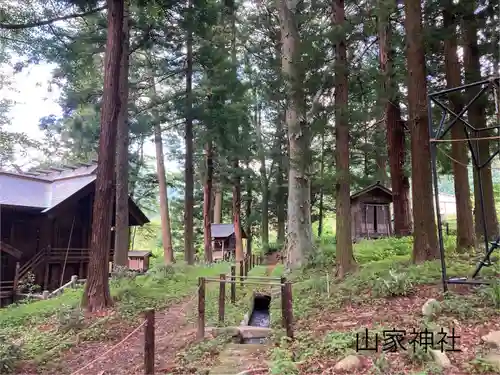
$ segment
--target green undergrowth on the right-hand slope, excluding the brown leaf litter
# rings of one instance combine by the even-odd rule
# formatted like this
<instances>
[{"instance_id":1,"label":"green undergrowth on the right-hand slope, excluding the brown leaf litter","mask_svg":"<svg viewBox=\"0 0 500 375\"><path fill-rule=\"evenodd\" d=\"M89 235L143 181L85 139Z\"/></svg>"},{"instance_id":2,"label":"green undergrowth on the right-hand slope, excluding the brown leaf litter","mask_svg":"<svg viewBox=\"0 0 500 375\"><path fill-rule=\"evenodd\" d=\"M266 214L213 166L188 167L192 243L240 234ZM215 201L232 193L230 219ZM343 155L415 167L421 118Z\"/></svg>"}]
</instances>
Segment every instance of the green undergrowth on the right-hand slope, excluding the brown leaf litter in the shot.
<instances>
[{"instance_id":1,"label":"green undergrowth on the right-hand slope, excluding the brown leaf litter","mask_svg":"<svg viewBox=\"0 0 500 375\"><path fill-rule=\"evenodd\" d=\"M465 277L472 275L476 261L482 253L464 256L454 250L456 238L445 237L445 251L448 277ZM317 326L328 324L325 321L314 322L312 316L328 317L337 314L346 304L363 303L369 306L375 299L390 299L401 296L412 296L421 285L440 286L440 261L425 262L414 265L411 262L412 238L388 238L361 241L354 245L354 256L358 269L343 280L335 279L335 245L322 240L322 246L311 256L308 264L289 276L293 284L293 314L295 324L295 340L289 342L284 337L281 327L280 301L273 300L271 324L275 330L275 348L271 350L272 374L309 373L301 366L308 368L307 363L335 361L352 354L356 348L356 334L360 327L346 327L342 332L317 331ZM485 267L481 271L484 278L493 278L500 273L499 265ZM438 296L436 296L437 298ZM485 321L500 311L500 283L488 287L471 288L471 293L458 295L448 293L441 304L441 317L436 322L439 326L448 326L450 321L469 319ZM366 311L369 312L369 311ZM419 314L419 311L409 314ZM377 317L374 317L376 319ZM321 318L323 319L323 318ZM353 317L353 322L356 317ZM384 329L394 327L379 327ZM377 328L378 329L378 328ZM370 334L374 330L370 330ZM424 371L433 364L423 358L422 353L408 353L407 359ZM375 359L372 368L374 374L387 373L383 356ZM417 364L418 361L423 361ZM425 363L424 363L425 362ZM304 372L305 371L305 372ZM311 369L311 371L313 371ZM311 372L311 373L314 373ZM425 372L424 372L425 373Z\"/></svg>"}]
</instances>

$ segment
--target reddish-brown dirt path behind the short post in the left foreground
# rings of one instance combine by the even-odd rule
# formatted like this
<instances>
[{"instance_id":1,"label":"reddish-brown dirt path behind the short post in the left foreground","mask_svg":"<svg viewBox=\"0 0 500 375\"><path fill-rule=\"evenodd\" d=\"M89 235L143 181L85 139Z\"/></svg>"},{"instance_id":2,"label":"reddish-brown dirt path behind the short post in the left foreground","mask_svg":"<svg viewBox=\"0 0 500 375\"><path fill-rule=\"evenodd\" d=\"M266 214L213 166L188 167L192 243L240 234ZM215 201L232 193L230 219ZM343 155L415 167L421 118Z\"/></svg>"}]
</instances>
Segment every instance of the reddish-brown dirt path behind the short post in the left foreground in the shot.
<instances>
[{"instance_id":1,"label":"reddish-brown dirt path behind the short post in the left foreground","mask_svg":"<svg viewBox=\"0 0 500 375\"><path fill-rule=\"evenodd\" d=\"M175 354L195 339L196 329L187 321L188 312L194 308L195 298L158 312L155 316L155 369L162 373L173 363ZM143 375L144 329L140 328L115 350L100 358L117 342L84 343L69 350L60 364L64 373L71 375ZM89 362L95 360L90 366ZM80 372L77 372L82 369Z\"/></svg>"}]
</instances>

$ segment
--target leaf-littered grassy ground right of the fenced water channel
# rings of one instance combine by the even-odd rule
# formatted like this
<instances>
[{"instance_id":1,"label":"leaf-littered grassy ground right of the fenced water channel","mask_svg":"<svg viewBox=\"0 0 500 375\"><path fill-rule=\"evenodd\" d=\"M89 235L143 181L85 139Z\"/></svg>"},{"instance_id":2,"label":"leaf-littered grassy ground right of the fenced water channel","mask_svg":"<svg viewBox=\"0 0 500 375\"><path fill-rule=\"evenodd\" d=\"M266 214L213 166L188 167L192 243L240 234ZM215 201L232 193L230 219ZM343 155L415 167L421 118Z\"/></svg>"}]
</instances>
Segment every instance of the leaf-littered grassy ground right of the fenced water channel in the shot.
<instances>
[{"instance_id":1,"label":"leaf-littered grassy ground right of the fenced water channel","mask_svg":"<svg viewBox=\"0 0 500 375\"><path fill-rule=\"evenodd\" d=\"M453 254L454 242L454 237L447 238L449 276L470 275L475 258ZM294 340L284 337L280 299L273 298L275 334L267 352L249 362L248 367L264 368L252 375L500 373L500 367L488 362L492 349L483 340L500 331L500 285L450 286L445 296L439 262L412 265L411 248L409 238L363 241L355 245L358 271L335 280L335 247L320 246L307 268L288 276L294 282ZM489 267L482 275L498 278L500 269ZM447 334L441 334L441 329ZM391 339L394 335L400 335L401 343ZM177 362L190 367L178 365L184 371L175 374L206 374L230 339L210 338L189 345ZM443 339L445 359L438 344Z\"/></svg>"}]
</instances>

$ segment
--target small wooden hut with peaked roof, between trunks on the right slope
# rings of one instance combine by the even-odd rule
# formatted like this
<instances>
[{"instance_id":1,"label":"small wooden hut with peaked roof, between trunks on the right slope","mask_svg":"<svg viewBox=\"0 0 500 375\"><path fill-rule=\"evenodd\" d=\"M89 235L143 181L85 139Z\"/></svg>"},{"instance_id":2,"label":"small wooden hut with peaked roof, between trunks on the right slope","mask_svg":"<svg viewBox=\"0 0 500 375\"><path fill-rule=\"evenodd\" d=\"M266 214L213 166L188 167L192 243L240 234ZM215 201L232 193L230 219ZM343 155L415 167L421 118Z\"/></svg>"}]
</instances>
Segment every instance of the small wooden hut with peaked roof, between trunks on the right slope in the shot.
<instances>
[{"instance_id":1,"label":"small wooden hut with peaked roof, between trunks on the right slope","mask_svg":"<svg viewBox=\"0 0 500 375\"><path fill-rule=\"evenodd\" d=\"M351 231L353 241L392 235L392 191L380 181L351 195Z\"/></svg>"}]
</instances>

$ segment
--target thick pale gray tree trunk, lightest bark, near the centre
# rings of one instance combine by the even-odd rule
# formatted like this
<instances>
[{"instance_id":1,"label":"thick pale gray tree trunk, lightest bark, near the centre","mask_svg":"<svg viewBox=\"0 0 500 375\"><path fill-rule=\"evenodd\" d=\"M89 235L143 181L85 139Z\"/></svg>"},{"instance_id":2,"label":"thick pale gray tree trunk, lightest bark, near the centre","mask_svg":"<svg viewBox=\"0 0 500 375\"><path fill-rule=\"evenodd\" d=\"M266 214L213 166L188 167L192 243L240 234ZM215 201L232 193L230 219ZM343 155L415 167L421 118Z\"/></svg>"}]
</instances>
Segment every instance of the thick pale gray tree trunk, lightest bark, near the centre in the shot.
<instances>
[{"instance_id":1,"label":"thick pale gray tree trunk, lightest bark, near the centre","mask_svg":"<svg viewBox=\"0 0 500 375\"><path fill-rule=\"evenodd\" d=\"M310 207L309 147L310 129L305 119L303 74L300 58L300 37L297 28L297 4L279 1L282 42L282 71L288 94L286 125L288 127L288 237L286 239L287 268L300 267L305 252L313 247Z\"/></svg>"}]
</instances>

